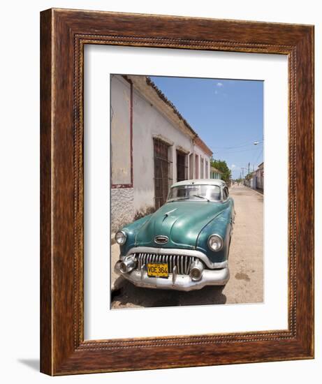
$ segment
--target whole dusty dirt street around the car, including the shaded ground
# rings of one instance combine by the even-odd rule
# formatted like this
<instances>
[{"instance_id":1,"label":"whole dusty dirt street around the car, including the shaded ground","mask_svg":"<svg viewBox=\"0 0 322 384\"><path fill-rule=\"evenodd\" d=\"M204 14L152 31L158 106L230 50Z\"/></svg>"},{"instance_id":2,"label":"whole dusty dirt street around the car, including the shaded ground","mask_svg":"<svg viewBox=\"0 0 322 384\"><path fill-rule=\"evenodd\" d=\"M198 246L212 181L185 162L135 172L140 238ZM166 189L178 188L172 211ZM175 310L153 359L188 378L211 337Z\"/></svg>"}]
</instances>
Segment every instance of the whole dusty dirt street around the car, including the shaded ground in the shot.
<instances>
[{"instance_id":1,"label":"whole dusty dirt street around the car, including the shaded ground","mask_svg":"<svg viewBox=\"0 0 322 384\"><path fill-rule=\"evenodd\" d=\"M224 287L205 287L191 292L138 288L112 272L112 308L173 307L201 304L263 302L263 195L234 185L235 226L230 244L230 280ZM119 246L112 245L112 267Z\"/></svg>"}]
</instances>

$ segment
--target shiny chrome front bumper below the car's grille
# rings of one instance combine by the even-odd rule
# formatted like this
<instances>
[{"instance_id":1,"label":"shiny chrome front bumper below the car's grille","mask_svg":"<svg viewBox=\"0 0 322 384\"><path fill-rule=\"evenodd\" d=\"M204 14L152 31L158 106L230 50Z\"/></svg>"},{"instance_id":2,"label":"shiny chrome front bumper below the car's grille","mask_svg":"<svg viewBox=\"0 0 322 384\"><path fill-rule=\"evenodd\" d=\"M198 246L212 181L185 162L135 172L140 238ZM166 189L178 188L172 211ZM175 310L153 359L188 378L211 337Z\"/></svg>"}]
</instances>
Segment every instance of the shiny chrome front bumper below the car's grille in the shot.
<instances>
[{"instance_id":1,"label":"shiny chrome front bumper below the car's grille","mask_svg":"<svg viewBox=\"0 0 322 384\"><path fill-rule=\"evenodd\" d=\"M228 267L222 269L204 269L203 276L199 281L193 281L189 275L170 273L168 278L149 277L147 270L141 268L140 271L134 269L128 273L122 273L119 269L119 260L115 264L115 273L124 276L125 279L131 281L135 286L143 288L159 288L173 290L198 290L205 286L224 286L229 280Z\"/></svg>"}]
</instances>

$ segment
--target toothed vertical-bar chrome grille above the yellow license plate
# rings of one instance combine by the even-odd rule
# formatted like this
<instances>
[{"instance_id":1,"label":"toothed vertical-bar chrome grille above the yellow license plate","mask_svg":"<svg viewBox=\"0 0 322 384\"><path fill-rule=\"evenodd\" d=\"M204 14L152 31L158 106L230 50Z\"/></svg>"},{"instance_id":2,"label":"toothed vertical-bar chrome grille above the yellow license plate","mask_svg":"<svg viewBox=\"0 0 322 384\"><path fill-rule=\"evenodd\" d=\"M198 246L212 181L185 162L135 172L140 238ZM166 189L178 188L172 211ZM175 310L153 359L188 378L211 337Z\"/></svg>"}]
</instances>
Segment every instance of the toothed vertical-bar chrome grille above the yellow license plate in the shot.
<instances>
[{"instance_id":1,"label":"toothed vertical-bar chrome grille above the yellow license plate","mask_svg":"<svg viewBox=\"0 0 322 384\"><path fill-rule=\"evenodd\" d=\"M138 259L138 267L140 270L142 265L147 263L167 263L168 272L173 272L173 267L177 267L177 274L189 274L191 263L196 260L193 256L182 255L156 255L155 253L134 253Z\"/></svg>"}]
</instances>

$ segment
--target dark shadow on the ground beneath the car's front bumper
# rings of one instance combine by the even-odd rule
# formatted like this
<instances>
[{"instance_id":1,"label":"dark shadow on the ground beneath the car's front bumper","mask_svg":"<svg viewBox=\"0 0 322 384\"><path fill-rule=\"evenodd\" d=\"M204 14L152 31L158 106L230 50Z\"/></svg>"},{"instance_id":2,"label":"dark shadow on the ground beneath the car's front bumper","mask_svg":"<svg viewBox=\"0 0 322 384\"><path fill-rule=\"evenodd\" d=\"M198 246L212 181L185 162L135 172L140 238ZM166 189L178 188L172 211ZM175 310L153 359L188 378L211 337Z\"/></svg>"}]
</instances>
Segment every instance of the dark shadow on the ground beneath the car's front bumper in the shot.
<instances>
[{"instance_id":1,"label":"dark shadow on the ground beneath the car's front bumper","mask_svg":"<svg viewBox=\"0 0 322 384\"><path fill-rule=\"evenodd\" d=\"M119 281L121 279L121 281ZM207 286L200 290L182 292L140 288L119 276L116 290L111 293L112 309L133 307L178 307L186 305L225 304L223 286Z\"/></svg>"}]
</instances>

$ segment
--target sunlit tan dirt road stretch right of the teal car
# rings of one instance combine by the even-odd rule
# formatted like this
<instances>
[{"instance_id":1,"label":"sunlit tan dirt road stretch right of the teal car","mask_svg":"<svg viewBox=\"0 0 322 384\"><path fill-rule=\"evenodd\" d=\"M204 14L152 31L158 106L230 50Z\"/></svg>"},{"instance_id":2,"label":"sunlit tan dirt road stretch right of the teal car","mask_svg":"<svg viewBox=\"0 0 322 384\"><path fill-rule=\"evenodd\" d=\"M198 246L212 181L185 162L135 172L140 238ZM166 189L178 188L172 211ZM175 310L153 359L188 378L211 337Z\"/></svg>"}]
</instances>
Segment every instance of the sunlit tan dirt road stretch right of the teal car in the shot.
<instances>
[{"instance_id":1,"label":"sunlit tan dirt road stretch right of the teal car","mask_svg":"<svg viewBox=\"0 0 322 384\"><path fill-rule=\"evenodd\" d=\"M263 195L234 185L235 226L230 245L227 303L263 302Z\"/></svg>"}]
</instances>

